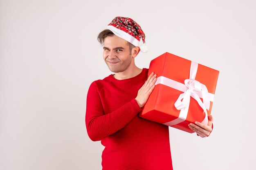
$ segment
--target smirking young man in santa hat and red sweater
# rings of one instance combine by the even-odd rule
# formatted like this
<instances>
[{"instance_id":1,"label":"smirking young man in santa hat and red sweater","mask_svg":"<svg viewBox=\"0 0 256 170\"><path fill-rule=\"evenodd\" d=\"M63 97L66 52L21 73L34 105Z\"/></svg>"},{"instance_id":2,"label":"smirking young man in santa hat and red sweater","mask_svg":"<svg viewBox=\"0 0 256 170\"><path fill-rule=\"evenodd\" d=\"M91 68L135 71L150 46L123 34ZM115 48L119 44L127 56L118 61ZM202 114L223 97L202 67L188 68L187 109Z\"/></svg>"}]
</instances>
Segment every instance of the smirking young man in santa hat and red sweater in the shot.
<instances>
[{"instance_id":1,"label":"smirking young man in santa hat and red sweater","mask_svg":"<svg viewBox=\"0 0 256 170\"><path fill-rule=\"evenodd\" d=\"M168 126L138 116L157 76L148 77L148 69L135 65L139 52L147 51L144 32L132 19L115 17L98 40L103 44L103 59L115 74L90 85L85 123L90 139L105 146L103 170L172 170ZM212 120L210 116L208 126L189 127L206 137Z\"/></svg>"}]
</instances>

